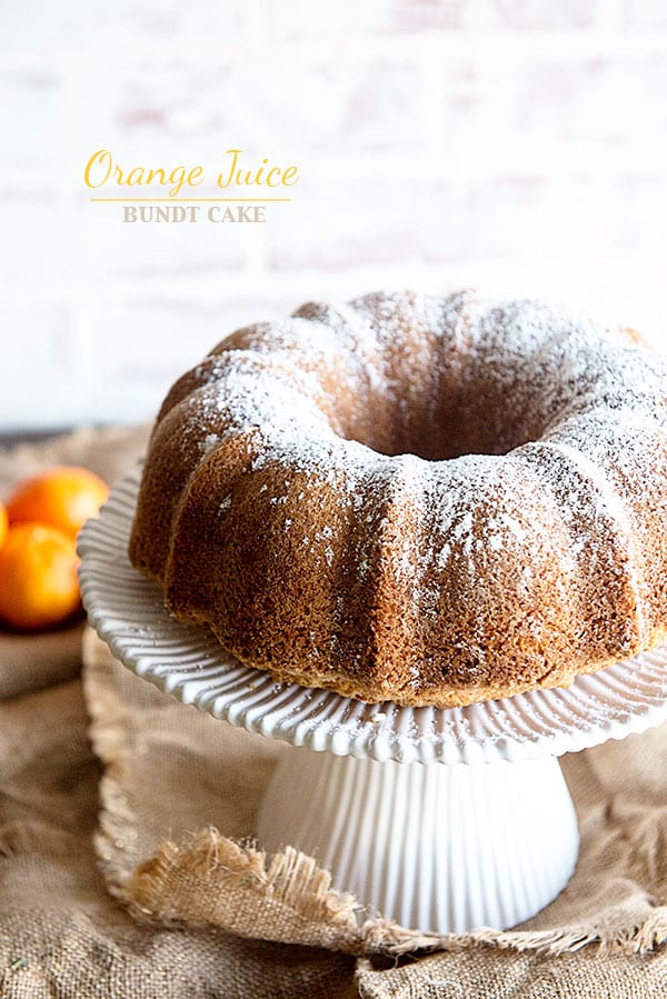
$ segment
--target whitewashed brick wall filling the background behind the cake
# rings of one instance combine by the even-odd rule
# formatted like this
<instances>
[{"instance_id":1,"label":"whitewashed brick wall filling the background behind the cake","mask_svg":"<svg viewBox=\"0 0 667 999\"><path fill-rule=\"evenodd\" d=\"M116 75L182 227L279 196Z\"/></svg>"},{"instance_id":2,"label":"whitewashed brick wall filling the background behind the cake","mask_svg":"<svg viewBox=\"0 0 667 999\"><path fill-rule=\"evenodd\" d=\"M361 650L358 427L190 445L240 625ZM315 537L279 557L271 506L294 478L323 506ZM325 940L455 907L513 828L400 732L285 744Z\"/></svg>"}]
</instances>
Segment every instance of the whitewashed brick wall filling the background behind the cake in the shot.
<instances>
[{"instance_id":1,"label":"whitewashed brick wall filling the background behind the cake","mask_svg":"<svg viewBox=\"0 0 667 999\"><path fill-rule=\"evenodd\" d=\"M265 226L82 168L298 162ZM379 287L569 299L667 349L661 0L0 0L0 430L152 416L229 330Z\"/></svg>"}]
</instances>

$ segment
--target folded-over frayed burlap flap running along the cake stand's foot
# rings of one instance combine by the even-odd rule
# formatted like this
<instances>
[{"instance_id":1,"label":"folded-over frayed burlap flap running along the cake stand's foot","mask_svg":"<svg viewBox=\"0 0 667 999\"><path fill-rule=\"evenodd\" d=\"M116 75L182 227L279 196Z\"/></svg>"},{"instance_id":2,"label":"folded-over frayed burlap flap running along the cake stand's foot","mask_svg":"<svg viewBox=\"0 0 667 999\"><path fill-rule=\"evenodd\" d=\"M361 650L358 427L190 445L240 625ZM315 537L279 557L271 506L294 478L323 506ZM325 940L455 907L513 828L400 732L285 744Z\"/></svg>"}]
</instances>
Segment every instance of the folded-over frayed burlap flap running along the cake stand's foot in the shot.
<instances>
[{"instance_id":1,"label":"folded-over frayed burlap flap running along the cake stand's foot","mask_svg":"<svg viewBox=\"0 0 667 999\"><path fill-rule=\"evenodd\" d=\"M557 955L590 943L640 953L667 940L667 907L656 908L641 925L621 931L589 925L538 932L485 928L460 935L420 933L368 917L352 896L331 888L331 876L311 857L291 847L269 857L212 828L178 846L163 843L135 870L121 897L139 918L213 923L243 937L357 956L452 951L480 945Z\"/></svg>"}]
</instances>

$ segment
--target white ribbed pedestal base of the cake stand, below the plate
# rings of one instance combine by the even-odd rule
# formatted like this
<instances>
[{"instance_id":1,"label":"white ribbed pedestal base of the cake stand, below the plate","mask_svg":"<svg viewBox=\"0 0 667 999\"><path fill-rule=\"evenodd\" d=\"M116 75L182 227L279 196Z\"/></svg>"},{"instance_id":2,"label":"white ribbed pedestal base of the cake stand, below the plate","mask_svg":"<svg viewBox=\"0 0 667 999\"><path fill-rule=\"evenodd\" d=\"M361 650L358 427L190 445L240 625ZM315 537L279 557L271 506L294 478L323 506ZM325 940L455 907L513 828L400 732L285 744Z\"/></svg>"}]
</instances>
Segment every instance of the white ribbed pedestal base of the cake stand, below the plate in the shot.
<instances>
[{"instance_id":1,"label":"white ribbed pedestal base of the cake stand, below the plate","mask_svg":"<svg viewBox=\"0 0 667 999\"><path fill-rule=\"evenodd\" d=\"M258 817L262 848L313 856L334 886L410 929L507 929L567 883L579 835L556 757L378 762L282 755Z\"/></svg>"}]
</instances>

